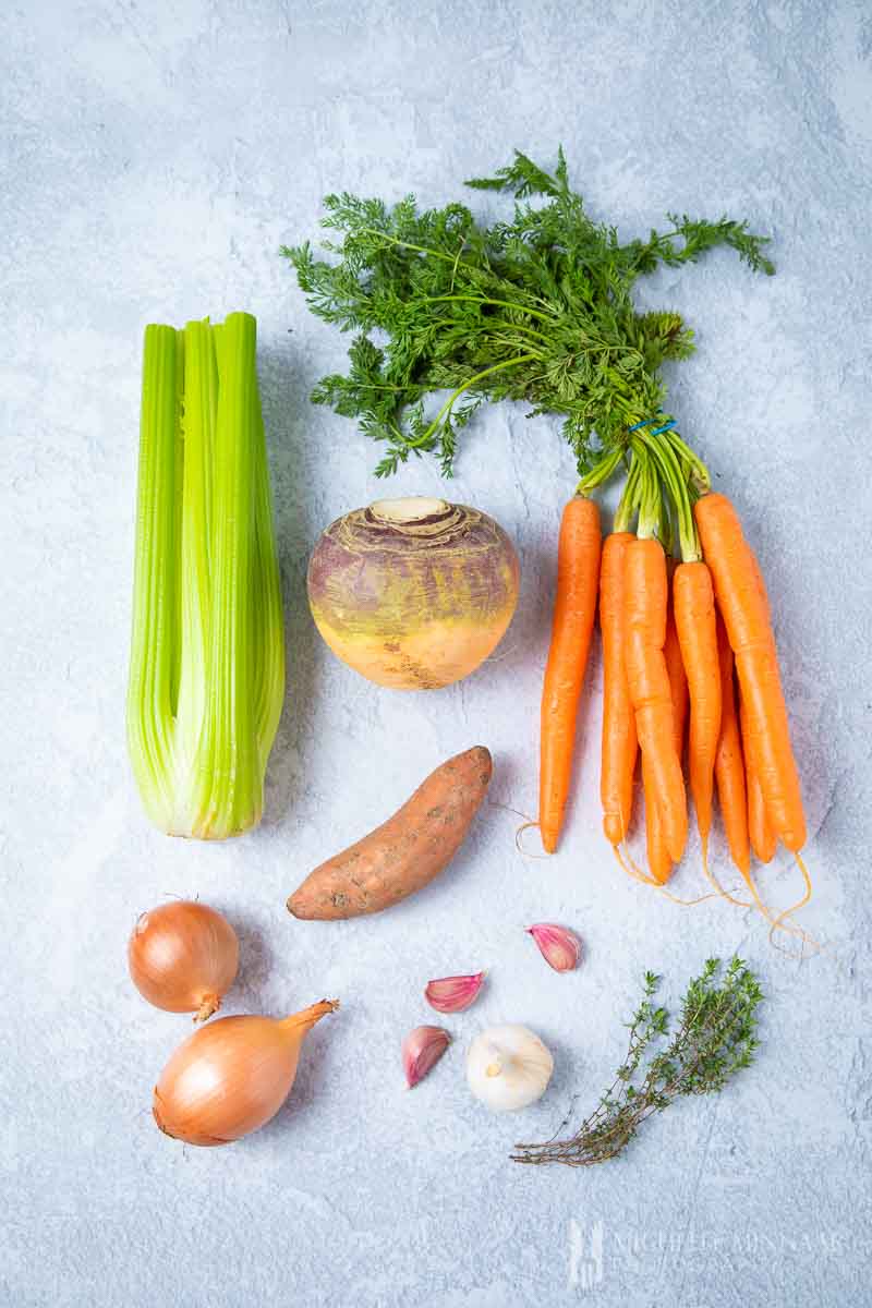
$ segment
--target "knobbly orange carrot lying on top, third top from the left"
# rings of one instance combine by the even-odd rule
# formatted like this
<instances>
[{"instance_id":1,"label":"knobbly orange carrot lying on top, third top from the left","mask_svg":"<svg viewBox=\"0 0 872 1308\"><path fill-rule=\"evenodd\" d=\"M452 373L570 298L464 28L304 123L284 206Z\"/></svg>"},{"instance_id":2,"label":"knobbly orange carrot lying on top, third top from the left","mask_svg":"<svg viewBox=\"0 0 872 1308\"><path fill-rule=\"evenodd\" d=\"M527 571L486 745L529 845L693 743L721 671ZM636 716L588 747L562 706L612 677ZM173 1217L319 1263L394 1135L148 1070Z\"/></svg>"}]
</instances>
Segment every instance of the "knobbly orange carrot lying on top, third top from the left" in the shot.
<instances>
[{"instance_id":1,"label":"knobbly orange carrot lying on top, third top from the left","mask_svg":"<svg viewBox=\"0 0 872 1308\"><path fill-rule=\"evenodd\" d=\"M624 574L624 621L628 687L635 731L665 846L677 863L688 838L688 802L675 747L672 696L663 646L667 632L667 566L654 539L630 542Z\"/></svg>"}]
</instances>

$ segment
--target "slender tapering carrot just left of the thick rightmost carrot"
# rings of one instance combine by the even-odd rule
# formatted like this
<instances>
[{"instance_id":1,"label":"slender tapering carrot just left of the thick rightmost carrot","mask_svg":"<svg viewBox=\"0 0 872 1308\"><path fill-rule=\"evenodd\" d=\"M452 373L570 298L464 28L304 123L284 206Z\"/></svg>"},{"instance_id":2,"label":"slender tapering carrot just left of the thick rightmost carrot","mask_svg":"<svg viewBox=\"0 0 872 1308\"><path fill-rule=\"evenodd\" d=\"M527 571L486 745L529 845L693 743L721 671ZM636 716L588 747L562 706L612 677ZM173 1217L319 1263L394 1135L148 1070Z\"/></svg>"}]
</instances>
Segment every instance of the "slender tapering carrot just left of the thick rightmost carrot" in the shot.
<instances>
[{"instance_id":1,"label":"slender tapering carrot just left of the thick rightmost carrot","mask_svg":"<svg viewBox=\"0 0 872 1308\"><path fill-rule=\"evenodd\" d=\"M690 793L707 857L715 755L720 736L720 670L711 573L703 562L679 564L672 583L675 620L690 692Z\"/></svg>"}]
</instances>

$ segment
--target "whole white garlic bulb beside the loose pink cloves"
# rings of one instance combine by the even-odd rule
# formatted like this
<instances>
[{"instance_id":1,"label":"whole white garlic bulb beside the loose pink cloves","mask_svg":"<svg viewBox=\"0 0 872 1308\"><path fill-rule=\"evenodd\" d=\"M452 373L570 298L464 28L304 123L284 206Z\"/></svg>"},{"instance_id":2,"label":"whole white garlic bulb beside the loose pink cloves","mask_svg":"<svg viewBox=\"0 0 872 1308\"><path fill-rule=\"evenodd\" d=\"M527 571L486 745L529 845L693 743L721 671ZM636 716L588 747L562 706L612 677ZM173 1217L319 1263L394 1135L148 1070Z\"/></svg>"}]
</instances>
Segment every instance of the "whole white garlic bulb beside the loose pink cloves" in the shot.
<instances>
[{"instance_id":1,"label":"whole white garlic bulb beside the loose pink cloves","mask_svg":"<svg viewBox=\"0 0 872 1308\"><path fill-rule=\"evenodd\" d=\"M528 1027L490 1027L469 1045L469 1090L494 1113L535 1104L545 1093L554 1059Z\"/></svg>"}]
</instances>

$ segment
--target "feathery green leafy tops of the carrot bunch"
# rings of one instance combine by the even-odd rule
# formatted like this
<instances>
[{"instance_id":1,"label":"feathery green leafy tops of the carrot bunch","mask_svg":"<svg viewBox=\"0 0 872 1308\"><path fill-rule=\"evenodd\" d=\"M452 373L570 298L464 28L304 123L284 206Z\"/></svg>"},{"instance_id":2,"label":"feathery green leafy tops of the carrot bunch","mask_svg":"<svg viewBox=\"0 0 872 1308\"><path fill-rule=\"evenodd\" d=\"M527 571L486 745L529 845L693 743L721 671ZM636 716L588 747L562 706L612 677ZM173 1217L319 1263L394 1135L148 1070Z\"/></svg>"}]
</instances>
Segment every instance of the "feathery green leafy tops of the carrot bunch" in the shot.
<instances>
[{"instance_id":1,"label":"feathery green leafy tops of the carrot bunch","mask_svg":"<svg viewBox=\"0 0 872 1308\"><path fill-rule=\"evenodd\" d=\"M669 215L668 230L622 243L587 213L562 150L553 174L516 152L468 184L514 194L511 220L485 226L456 203L418 211L411 195L392 207L328 195L322 225L335 262L309 242L282 247L312 313L356 332L348 371L322 378L312 400L384 445L379 476L426 451L451 476L460 432L482 402L502 399L527 402L529 416L561 415L579 475L590 475L663 409L662 364L693 352L677 313L637 311L637 279L719 245L774 272L767 238L727 217ZM430 415L437 391L447 399Z\"/></svg>"}]
</instances>

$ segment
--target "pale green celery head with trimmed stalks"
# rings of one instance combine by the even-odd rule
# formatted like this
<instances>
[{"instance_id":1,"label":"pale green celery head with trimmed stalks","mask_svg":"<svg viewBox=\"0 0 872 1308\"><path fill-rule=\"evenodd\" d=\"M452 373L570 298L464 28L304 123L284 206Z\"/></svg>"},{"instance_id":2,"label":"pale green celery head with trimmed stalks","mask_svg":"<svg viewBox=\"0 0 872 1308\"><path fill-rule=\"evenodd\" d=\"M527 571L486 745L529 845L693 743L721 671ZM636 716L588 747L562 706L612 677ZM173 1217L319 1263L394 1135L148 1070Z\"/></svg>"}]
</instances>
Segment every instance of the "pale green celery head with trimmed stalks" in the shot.
<instances>
[{"instance_id":1,"label":"pale green celery head with trimmed stalks","mask_svg":"<svg viewBox=\"0 0 872 1308\"><path fill-rule=\"evenodd\" d=\"M260 820L285 685L255 319L145 330L127 730L152 820Z\"/></svg>"}]
</instances>

